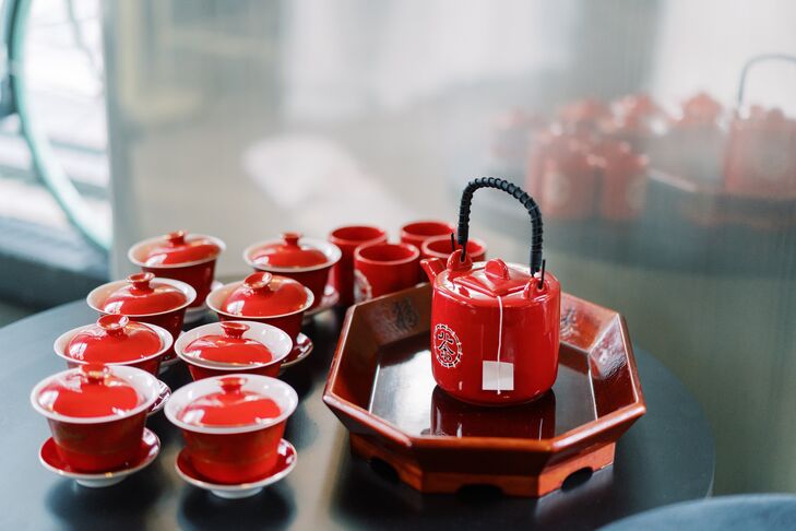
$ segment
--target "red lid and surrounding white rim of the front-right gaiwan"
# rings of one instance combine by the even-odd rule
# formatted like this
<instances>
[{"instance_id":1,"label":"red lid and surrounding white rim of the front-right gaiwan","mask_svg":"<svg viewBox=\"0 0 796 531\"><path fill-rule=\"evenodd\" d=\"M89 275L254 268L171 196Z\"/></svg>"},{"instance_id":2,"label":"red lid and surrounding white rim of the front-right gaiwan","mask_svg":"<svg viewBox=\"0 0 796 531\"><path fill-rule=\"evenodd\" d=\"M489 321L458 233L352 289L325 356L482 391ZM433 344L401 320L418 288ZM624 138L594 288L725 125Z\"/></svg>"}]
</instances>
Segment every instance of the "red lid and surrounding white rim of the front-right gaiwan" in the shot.
<instances>
[{"instance_id":1,"label":"red lid and surrounding white rim of the front-right gaiwan","mask_svg":"<svg viewBox=\"0 0 796 531\"><path fill-rule=\"evenodd\" d=\"M296 391L284 381L259 375L204 378L180 388L166 404L166 416L183 429L239 433L287 418Z\"/></svg>"}]
</instances>

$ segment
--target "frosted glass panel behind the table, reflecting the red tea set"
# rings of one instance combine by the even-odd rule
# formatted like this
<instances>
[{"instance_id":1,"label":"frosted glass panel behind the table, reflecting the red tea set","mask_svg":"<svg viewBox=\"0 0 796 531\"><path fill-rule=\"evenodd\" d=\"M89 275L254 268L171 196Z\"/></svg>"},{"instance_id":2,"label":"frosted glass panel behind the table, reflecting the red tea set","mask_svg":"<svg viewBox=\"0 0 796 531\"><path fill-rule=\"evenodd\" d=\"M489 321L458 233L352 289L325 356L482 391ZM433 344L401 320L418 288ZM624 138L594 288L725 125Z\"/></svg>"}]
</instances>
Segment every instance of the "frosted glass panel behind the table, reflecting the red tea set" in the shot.
<instances>
[{"instance_id":1,"label":"frosted glass panel behind the table, reflecting the red tea set","mask_svg":"<svg viewBox=\"0 0 796 531\"><path fill-rule=\"evenodd\" d=\"M717 492L796 489L796 54L786 1L119 1L105 12L117 274L175 228L453 220L526 187L548 270L702 403ZM631 95L633 98L626 98ZM752 108L752 105L760 106ZM777 110L779 109L779 110ZM489 253L527 256L507 198ZM643 382L642 382L643 384ZM651 406L654 406L652 404ZM765 451L761 451L761 449Z\"/></svg>"}]
</instances>

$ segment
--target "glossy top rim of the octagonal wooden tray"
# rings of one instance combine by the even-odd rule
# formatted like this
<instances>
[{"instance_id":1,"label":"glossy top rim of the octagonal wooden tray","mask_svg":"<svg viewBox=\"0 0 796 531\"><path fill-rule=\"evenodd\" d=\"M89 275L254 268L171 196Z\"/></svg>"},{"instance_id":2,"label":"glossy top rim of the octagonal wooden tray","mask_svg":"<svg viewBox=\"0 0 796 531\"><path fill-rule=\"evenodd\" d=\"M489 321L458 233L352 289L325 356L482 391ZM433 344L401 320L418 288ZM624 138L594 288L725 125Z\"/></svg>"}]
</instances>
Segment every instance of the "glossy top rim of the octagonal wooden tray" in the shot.
<instances>
[{"instance_id":1,"label":"glossy top rim of the octagonal wooden tray","mask_svg":"<svg viewBox=\"0 0 796 531\"><path fill-rule=\"evenodd\" d=\"M526 439L519 437L451 437L443 435L408 435L403 432L399 426L395 426L391 422L382 418L378 415L372 414L370 411L361 408L348 400L345 400L334 393L332 386L337 379L340 373L340 364L343 356L343 345L345 344L346 338L351 330L352 321L354 320L354 314L358 308L376 304L379 300L383 300L390 297L397 297L402 294L406 294L412 291L420 288L430 288L429 283L421 283L416 286L382 295L380 297L366 300L351 306L345 312L345 320L341 329L340 339L337 346L334 351L334 357L332 365L326 377L326 384L323 389L323 402L334 412L340 412L356 420L357 422L368 426L370 429L378 432L382 437L391 439L393 442L397 442L405 448L417 448L417 449L444 449L451 446L455 446L458 449L463 450L483 450L488 447L490 449L507 450L507 451L532 451L532 452L547 452L558 453L572 449L579 444L585 442L595 435L604 432L609 432L630 424L646 413L646 401L644 393L641 388L641 381L639 380L639 373L635 363L635 355L633 354L632 343L628 334L628 327L625 317L616 310L605 308L590 300L577 297L574 295L562 293L562 297L568 299L574 299L582 304L603 308L614 314L614 318L619 320L619 329L621 330L622 344L628 358L628 370L630 371L631 389L633 392L634 400L632 403L623 405L618 410L615 410L604 416L599 416L593 421L583 423L577 427L573 427L562 434L556 435L551 438L546 439ZM592 344L599 341L602 335L595 337ZM567 343L571 349L587 356L589 352L584 352L583 349L572 345L571 343L561 340L562 343Z\"/></svg>"}]
</instances>

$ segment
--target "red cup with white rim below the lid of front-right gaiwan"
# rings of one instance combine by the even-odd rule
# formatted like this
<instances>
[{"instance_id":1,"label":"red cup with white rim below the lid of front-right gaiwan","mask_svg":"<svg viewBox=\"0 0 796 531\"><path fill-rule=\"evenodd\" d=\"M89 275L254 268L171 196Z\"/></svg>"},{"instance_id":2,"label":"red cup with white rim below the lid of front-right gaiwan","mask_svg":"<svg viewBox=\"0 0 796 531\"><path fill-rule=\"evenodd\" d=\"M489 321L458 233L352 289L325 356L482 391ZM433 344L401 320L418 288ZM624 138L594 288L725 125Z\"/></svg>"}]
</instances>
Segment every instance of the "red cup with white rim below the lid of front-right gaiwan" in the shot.
<instances>
[{"instance_id":1,"label":"red cup with white rim below the lid of front-right gaiwan","mask_svg":"<svg viewBox=\"0 0 796 531\"><path fill-rule=\"evenodd\" d=\"M262 396L278 404L280 415L245 425L195 425L180 417L192 400L218 389L218 382L231 379L242 380L245 389L259 388ZM257 481L274 468L285 424L297 404L296 391L283 381L230 375L198 380L178 389L166 404L165 413L182 430L186 451L197 472L214 483L239 484Z\"/></svg>"}]
</instances>

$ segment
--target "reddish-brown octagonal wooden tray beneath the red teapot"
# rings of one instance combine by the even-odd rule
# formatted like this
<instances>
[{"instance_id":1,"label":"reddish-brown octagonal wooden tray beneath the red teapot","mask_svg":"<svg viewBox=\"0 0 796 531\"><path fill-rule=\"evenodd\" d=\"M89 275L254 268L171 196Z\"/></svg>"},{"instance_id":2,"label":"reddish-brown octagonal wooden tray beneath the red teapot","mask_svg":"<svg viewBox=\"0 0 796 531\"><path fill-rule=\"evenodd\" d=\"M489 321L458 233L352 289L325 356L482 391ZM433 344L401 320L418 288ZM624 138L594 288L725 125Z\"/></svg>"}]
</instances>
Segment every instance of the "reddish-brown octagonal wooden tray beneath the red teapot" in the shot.
<instances>
[{"instance_id":1,"label":"reddish-brown octagonal wooden tray beneath the red teapot","mask_svg":"<svg viewBox=\"0 0 796 531\"><path fill-rule=\"evenodd\" d=\"M617 439L646 411L621 316L570 295L561 304L558 379L531 403L480 408L437 388L429 284L348 310L323 401L355 453L420 492L492 485L543 496L611 464Z\"/></svg>"}]
</instances>

